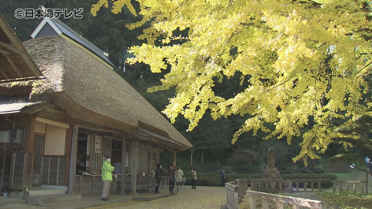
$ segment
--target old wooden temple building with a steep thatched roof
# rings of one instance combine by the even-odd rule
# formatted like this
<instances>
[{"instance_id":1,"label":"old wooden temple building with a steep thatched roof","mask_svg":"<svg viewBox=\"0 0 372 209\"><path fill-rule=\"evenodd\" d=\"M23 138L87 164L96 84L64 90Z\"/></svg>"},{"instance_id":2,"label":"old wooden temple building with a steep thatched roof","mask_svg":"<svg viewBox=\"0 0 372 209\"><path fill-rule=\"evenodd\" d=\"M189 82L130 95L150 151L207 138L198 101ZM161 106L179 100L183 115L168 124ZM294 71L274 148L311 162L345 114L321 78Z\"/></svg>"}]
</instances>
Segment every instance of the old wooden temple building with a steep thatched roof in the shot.
<instances>
[{"instance_id":1,"label":"old wooden temple building with a steep thatched roof","mask_svg":"<svg viewBox=\"0 0 372 209\"><path fill-rule=\"evenodd\" d=\"M0 186L24 195L153 187L159 153L191 144L114 70L103 52L57 19L21 43L0 14ZM92 175L93 174L93 175Z\"/></svg>"}]
</instances>

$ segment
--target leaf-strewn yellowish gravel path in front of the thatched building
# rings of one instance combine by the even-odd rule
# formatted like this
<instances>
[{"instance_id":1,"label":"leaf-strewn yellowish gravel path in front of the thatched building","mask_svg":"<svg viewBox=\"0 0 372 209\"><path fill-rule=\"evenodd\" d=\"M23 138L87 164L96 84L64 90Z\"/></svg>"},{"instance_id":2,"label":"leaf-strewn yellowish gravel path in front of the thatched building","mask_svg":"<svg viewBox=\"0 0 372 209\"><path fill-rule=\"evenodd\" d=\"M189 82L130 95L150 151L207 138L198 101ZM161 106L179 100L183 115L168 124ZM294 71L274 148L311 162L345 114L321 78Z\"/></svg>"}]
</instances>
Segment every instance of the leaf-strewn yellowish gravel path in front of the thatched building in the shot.
<instances>
[{"instance_id":1,"label":"leaf-strewn yellowish gravel path in front of the thatched building","mask_svg":"<svg viewBox=\"0 0 372 209\"><path fill-rule=\"evenodd\" d=\"M176 190L176 189L175 189ZM112 209L112 208L220 208L226 202L225 187L204 187L199 186L196 189L184 187L179 194L163 199L157 199L150 202L130 201L124 203L115 203L105 206L92 207L92 209Z\"/></svg>"}]
</instances>

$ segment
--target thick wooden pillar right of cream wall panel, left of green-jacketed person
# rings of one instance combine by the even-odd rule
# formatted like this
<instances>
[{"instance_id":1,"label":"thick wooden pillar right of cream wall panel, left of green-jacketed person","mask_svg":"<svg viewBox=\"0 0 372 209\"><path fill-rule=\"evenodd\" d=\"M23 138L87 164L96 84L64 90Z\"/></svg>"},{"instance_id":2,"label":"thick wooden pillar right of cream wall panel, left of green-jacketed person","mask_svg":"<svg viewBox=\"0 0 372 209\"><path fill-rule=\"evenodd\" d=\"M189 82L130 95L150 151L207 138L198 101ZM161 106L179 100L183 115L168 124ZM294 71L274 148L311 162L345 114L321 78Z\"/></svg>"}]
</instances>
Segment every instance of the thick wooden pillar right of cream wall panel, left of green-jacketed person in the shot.
<instances>
[{"instance_id":1,"label":"thick wooden pillar right of cream wall panel, left of green-jacketed person","mask_svg":"<svg viewBox=\"0 0 372 209\"><path fill-rule=\"evenodd\" d=\"M71 140L71 158L70 158L70 178L68 179L68 194L74 194L74 184L76 176L76 155L77 155L77 138L79 126L74 125L72 129Z\"/></svg>"}]
</instances>

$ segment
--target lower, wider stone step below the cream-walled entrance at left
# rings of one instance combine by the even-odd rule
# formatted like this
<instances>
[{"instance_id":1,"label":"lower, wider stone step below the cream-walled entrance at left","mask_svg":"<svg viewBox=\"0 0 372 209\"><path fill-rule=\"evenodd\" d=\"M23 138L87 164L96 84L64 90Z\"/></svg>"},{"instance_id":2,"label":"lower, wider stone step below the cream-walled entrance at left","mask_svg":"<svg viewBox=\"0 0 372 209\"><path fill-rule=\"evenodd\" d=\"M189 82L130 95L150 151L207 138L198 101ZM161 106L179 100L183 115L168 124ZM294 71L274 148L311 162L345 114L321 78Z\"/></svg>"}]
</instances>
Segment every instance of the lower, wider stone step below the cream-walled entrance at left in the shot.
<instances>
[{"instance_id":1,"label":"lower, wider stone step below the cream-walled entrance at left","mask_svg":"<svg viewBox=\"0 0 372 209\"><path fill-rule=\"evenodd\" d=\"M26 203L32 205L41 205L44 203L54 202L66 202L72 200L81 200L81 194L50 194L26 197Z\"/></svg>"}]
</instances>

